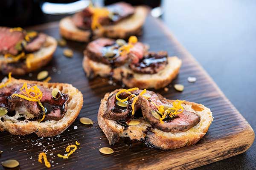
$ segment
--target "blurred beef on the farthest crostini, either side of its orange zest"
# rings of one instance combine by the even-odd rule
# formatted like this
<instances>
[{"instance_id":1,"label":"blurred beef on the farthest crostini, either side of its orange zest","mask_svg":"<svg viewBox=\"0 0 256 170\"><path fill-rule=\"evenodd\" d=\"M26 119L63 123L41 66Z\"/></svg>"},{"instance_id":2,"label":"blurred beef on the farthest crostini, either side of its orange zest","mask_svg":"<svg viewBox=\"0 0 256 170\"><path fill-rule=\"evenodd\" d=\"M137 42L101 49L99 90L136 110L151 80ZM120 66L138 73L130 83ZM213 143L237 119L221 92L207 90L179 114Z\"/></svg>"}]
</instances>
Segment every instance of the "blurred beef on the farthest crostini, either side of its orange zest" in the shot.
<instances>
[{"instance_id":1,"label":"blurred beef on the farthest crostini, either side of its orange zest","mask_svg":"<svg viewBox=\"0 0 256 170\"><path fill-rule=\"evenodd\" d=\"M110 6L107 6L108 10L113 14L107 17L99 18L99 23L101 25L110 25L120 20L129 17L134 14L135 8L128 3L113 3ZM85 8L83 11L78 12L73 15L72 21L76 27L80 29L91 29L91 17L93 15L92 8Z\"/></svg>"}]
</instances>

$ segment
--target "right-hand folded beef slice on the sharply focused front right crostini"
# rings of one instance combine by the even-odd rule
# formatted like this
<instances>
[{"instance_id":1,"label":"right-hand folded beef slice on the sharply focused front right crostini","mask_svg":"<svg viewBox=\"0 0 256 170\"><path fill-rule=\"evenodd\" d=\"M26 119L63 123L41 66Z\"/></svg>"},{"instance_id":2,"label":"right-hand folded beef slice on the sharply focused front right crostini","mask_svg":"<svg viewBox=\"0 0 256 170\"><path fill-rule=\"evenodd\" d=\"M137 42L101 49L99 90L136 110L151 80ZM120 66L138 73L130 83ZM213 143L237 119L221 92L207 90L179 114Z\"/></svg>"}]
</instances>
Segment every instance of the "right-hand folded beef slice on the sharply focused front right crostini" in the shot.
<instances>
[{"instance_id":1,"label":"right-hand folded beef slice on the sharply focused front right crostini","mask_svg":"<svg viewBox=\"0 0 256 170\"><path fill-rule=\"evenodd\" d=\"M153 101L156 105L172 106L171 103L165 101L163 97L158 94L152 95L150 100ZM166 119L163 120L164 123L161 123L159 119L156 119L151 114L151 111L157 111L156 106L152 104L152 102L141 96L139 97L139 102L144 119L148 121L152 126L163 130L164 132L185 132L200 122L200 117L197 114L184 110L182 113L179 113L173 118L167 116Z\"/></svg>"}]
</instances>

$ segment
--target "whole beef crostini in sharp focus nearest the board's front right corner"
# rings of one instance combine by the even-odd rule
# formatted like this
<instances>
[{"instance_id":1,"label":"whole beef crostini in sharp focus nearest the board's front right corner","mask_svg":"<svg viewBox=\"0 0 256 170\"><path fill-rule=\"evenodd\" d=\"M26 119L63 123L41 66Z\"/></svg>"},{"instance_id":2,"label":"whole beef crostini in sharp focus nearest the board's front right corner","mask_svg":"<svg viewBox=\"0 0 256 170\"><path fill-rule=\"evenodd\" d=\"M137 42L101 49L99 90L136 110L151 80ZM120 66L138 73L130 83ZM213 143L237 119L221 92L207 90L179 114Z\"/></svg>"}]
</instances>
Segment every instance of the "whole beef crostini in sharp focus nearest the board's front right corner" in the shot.
<instances>
[{"instance_id":1,"label":"whole beef crostini in sharp focus nearest the board's front right corner","mask_svg":"<svg viewBox=\"0 0 256 170\"><path fill-rule=\"evenodd\" d=\"M105 94L98 112L99 127L109 144L121 136L163 150L196 144L212 120L212 112L204 105L169 100L139 88Z\"/></svg>"}]
</instances>

